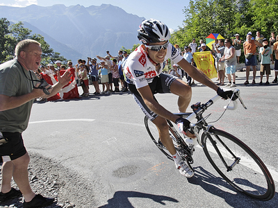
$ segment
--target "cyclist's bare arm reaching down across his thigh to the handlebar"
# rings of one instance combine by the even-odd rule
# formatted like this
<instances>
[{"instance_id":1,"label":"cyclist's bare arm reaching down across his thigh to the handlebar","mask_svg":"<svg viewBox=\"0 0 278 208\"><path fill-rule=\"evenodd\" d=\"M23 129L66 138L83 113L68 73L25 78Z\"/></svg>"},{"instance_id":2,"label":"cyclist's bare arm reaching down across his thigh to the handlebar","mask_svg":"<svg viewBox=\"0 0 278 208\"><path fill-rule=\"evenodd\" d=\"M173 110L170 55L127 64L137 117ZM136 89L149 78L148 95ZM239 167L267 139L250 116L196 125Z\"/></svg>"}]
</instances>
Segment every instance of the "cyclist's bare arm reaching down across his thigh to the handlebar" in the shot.
<instances>
[{"instance_id":1,"label":"cyclist's bare arm reaching down across his thigh to the handlebar","mask_svg":"<svg viewBox=\"0 0 278 208\"><path fill-rule=\"evenodd\" d=\"M161 116L173 122L179 119L179 116L172 114L170 111L166 110L162 105L160 105L154 100L154 95L152 94L149 85L145 87L140 87L137 90L142 96L147 107L149 107L149 110L152 110L153 112L158 114L158 116Z\"/></svg>"}]
</instances>

